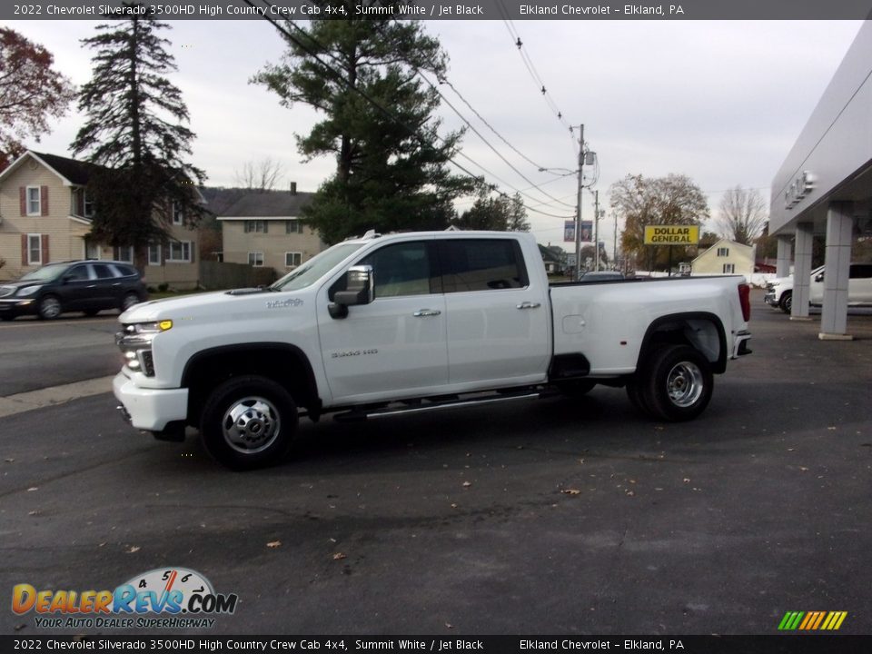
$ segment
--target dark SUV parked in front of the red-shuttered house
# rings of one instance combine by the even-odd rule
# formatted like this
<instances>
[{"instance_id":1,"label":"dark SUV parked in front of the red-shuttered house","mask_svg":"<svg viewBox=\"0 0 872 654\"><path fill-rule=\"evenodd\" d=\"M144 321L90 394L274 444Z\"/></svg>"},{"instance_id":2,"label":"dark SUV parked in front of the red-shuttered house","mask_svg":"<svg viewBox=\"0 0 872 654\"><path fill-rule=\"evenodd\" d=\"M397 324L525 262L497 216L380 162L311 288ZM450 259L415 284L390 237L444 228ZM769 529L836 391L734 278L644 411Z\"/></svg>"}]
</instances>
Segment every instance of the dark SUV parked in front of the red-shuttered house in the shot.
<instances>
[{"instance_id":1,"label":"dark SUV parked in front of the red-shuttered house","mask_svg":"<svg viewBox=\"0 0 872 654\"><path fill-rule=\"evenodd\" d=\"M130 263L49 263L15 282L0 285L0 319L36 314L51 320L71 311L85 315L103 309L124 311L147 299L145 284Z\"/></svg>"}]
</instances>

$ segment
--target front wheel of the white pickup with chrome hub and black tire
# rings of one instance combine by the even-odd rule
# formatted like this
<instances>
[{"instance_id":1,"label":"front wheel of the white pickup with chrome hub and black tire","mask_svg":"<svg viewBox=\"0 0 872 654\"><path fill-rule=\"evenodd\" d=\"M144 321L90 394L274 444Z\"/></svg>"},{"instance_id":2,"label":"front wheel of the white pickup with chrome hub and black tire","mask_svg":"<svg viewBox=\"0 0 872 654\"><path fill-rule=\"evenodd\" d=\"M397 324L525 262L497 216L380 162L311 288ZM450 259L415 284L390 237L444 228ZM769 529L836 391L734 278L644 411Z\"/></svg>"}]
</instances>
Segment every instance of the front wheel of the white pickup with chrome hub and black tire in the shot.
<instances>
[{"instance_id":1,"label":"front wheel of the white pickup with chrome hub and black tire","mask_svg":"<svg viewBox=\"0 0 872 654\"><path fill-rule=\"evenodd\" d=\"M251 470L282 461L297 431L297 406L288 391L266 377L224 381L203 406L200 435L216 461Z\"/></svg>"}]
</instances>

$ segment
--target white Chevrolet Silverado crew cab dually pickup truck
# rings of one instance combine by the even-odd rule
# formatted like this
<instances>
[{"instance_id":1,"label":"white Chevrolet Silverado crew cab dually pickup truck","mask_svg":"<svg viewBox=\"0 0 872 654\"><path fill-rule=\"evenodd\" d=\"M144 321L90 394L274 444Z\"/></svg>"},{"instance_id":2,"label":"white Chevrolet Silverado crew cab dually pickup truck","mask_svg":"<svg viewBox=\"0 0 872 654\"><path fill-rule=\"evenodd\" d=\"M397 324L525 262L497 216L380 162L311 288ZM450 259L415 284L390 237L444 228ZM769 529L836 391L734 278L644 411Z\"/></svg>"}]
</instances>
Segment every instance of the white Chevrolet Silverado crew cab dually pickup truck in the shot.
<instances>
[{"instance_id":1,"label":"white Chevrolet Silverado crew cab dually pickup truck","mask_svg":"<svg viewBox=\"0 0 872 654\"><path fill-rule=\"evenodd\" d=\"M162 440L200 430L236 468L281 460L317 421L626 386L688 420L750 352L742 277L549 286L526 233L400 233L338 243L267 288L124 312L119 409Z\"/></svg>"}]
</instances>

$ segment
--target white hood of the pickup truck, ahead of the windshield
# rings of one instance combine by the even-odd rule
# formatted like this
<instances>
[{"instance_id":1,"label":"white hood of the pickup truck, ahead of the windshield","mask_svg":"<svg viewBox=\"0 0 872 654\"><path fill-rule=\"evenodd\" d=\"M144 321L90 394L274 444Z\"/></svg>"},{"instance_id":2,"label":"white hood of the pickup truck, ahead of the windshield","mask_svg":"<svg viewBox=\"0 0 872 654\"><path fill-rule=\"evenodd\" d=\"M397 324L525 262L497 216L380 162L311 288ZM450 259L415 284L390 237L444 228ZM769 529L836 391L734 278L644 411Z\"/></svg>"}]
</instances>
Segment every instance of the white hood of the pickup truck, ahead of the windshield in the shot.
<instances>
[{"instance_id":1,"label":"white hood of the pickup truck, ahead of the windshield","mask_svg":"<svg viewBox=\"0 0 872 654\"><path fill-rule=\"evenodd\" d=\"M245 316L276 315L290 312L309 301L308 293L274 292L268 289L237 289L185 295L134 304L118 317L118 322L212 322Z\"/></svg>"}]
</instances>

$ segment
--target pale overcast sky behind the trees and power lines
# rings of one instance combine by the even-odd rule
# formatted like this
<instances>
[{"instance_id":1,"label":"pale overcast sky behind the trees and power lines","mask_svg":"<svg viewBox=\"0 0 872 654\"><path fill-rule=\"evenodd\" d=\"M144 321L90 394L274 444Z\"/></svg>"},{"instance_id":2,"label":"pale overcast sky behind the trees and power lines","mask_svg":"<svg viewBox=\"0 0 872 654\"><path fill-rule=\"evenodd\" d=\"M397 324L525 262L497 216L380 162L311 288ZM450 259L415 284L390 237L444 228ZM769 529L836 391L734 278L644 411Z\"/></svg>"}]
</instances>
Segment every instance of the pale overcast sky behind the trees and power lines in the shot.
<instances>
[{"instance_id":1,"label":"pale overcast sky behind the trees and power lines","mask_svg":"<svg viewBox=\"0 0 872 654\"><path fill-rule=\"evenodd\" d=\"M55 66L74 84L91 74L93 54L80 39L94 35L88 21L9 22L45 45ZM305 134L316 114L303 105L279 106L263 87L248 84L267 62L277 62L282 39L265 21L176 21L163 35L179 70L172 81L183 92L197 134L193 163L207 183L232 186L243 163L272 157L284 166L286 185L314 191L332 173L329 159L302 163L293 134ZM517 150L535 163L574 170L575 150L564 124L552 113L514 45L544 81L550 100L567 124L585 124L585 141L599 157L600 240L611 253L614 221L609 186L627 174L682 173L708 195L714 218L723 191L741 184L769 198L769 183L806 124L860 23L853 21L428 21L425 30L441 40L451 58L451 84ZM556 179L534 166L490 132L451 89L442 93L531 182L530 189L469 131L458 162L484 173L524 201L540 243L560 243L570 217L576 180ZM461 118L443 106L443 129ZM37 151L70 155L69 144L83 123L71 112L54 123ZM578 132L575 133L577 138ZM472 163L470 159L475 162ZM587 169L586 169L587 170ZM497 179L499 178L499 180ZM589 180L590 181L590 180ZM528 190L529 189L529 190ZM544 193L567 206L553 202ZM531 197L530 197L531 196ZM537 202L538 199L538 202ZM582 218L593 215L585 191ZM462 209L471 200L459 203Z\"/></svg>"}]
</instances>

